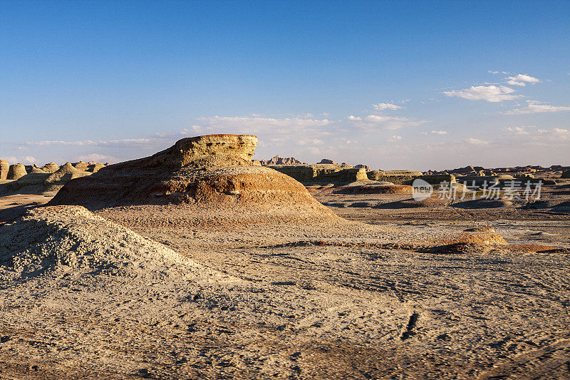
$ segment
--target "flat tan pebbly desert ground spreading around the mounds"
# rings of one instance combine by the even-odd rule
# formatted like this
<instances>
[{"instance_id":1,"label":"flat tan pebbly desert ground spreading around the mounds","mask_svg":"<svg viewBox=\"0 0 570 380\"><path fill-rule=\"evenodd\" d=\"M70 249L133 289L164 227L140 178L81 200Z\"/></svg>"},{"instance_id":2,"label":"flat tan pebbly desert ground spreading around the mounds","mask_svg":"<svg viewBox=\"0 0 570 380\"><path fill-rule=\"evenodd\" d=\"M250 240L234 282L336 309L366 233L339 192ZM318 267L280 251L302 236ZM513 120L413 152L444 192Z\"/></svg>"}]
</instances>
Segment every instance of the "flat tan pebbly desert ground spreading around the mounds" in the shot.
<instances>
[{"instance_id":1,"label":"flat tan pebbly desert ground spreading around the mounds","mask_svg":"<svg viewBox=\"0 0 570 380\"><path fill-rule=\"evenodd\" d=\"M120 271L12 273L0 284L0 378L570 377L564 250L438 254L386 245L489 225L515 245L567 248L568 213L330 209L352 221L164 227L140 225L140 212L94 211L103 219L82 222L99 231L82 237L89 247L120 246L103 231L126 227L192 261L170 262L160 251L135 267L118 257ZM146 245L130 247L129 255L150 255Z\"/></svg>"}]
</instances>

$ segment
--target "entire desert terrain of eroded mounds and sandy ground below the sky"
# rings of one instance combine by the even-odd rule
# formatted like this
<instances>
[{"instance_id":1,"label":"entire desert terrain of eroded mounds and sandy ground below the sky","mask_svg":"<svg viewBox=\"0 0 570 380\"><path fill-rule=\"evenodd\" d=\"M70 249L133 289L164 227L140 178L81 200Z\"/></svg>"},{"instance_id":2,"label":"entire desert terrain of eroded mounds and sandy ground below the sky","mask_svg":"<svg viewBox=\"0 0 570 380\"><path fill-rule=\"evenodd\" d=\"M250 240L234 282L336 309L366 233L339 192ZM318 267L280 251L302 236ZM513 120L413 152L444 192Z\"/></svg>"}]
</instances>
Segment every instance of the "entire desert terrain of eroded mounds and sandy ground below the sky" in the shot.
<instances>
[{"instance_id":1,"label":"entire desert terrain of eroded mounds and sandy ground below the sky","mask_svg":"<svg viewBox=\"0 0 570 380\"><path fill-rule=\"evenodd\" d=\"M570 376L568 167L386 172L256 146L2 161L0 377ZM424 200L418 178L439 184ZM488 178L499 198L473 200ZM544 185L509 197L514 179Z\"/></svg>"}]
</instances>

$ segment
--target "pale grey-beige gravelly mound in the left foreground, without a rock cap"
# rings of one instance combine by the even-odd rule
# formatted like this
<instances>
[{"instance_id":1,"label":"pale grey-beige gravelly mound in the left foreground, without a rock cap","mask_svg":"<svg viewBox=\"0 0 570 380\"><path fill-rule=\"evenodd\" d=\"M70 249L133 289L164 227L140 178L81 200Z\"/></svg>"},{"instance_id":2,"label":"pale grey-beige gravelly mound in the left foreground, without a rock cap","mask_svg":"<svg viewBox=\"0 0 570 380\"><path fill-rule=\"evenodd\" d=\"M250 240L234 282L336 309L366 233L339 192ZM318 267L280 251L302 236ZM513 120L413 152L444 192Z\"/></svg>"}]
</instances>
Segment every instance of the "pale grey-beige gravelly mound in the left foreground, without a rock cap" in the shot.
<instances>
[{"instance_id":1,"label":"pale grey-beige gravelly mound in the left foreground, without a rock cap","mask_svg":"<svg viewBox=\"0 0 570 380\"><path fill-rule=\"evenodd\" d=\"M190 260L78 206L43 207L0 227L0 267L8 277L71 269L129 277L160 277Z\"/></svg>"}]
</instances>

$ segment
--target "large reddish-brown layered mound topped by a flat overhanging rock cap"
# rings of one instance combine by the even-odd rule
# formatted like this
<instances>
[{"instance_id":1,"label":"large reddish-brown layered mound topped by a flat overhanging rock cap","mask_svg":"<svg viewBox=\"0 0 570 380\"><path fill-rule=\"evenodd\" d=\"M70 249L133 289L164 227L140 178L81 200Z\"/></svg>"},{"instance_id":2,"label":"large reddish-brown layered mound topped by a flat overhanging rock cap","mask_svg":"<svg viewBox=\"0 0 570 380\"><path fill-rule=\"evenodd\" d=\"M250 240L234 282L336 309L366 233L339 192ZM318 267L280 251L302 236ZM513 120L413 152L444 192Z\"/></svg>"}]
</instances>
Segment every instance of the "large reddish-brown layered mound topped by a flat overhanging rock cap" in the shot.
<instances>
[{"instance_id":1,"label":"large reddish-brown layered mound topped by a flat overhanging rock cap","mask_svg":"<svg viewBox=\"0 0 570 380\"><path fill-rule=\"evenodd\" d=\"M256 146L257 137L252 135L185 138L150 157L109 165L89 177L73 180L50 204L90 209L169 205L170 211L176 209L185 222L188 217L204 216L201 214L206 210L217 213L218 220L232 221L254 215L270 219L336 218L301 183L254 165ZM160 208L159 217L170 211Z\"/></svg>"}]
</instances>

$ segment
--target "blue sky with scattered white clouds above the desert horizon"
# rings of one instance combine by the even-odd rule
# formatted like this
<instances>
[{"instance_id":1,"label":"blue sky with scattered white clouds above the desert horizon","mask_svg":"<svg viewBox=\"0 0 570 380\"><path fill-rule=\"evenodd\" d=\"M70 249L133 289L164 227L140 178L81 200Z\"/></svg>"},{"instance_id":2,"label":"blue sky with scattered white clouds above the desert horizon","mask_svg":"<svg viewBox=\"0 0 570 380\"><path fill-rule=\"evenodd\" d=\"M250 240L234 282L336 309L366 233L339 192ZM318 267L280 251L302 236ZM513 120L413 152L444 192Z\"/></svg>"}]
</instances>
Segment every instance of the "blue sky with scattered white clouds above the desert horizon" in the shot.
<instances>
[{"instance_id":1,"label":"blue sky with scattered white clouds above the desert horizon","mask_svg":"<svg viewBox=\"0 0 570 380\"><path fill-rule=\"evenodd\" d=\"M570 1L3 1L0 158L570 165Z\"/></svg>"}]
</instances>

